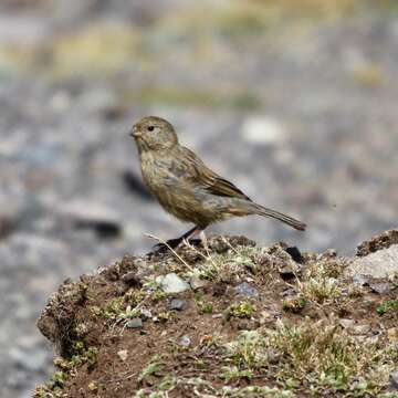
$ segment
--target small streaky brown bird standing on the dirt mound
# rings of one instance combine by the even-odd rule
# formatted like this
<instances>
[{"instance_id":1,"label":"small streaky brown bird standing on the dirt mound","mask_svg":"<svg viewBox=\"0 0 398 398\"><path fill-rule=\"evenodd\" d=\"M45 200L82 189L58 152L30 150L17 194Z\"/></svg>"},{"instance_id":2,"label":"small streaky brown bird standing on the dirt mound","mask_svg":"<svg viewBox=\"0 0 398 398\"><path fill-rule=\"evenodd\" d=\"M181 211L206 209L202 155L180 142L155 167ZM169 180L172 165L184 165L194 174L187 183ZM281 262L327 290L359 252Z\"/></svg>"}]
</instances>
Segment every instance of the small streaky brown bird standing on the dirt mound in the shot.
<instances>
[{"instance_id":1,"label":"small streaky brown bird standing on the dirt mound","mask_svg":"<svg viewBox=\"0 0 398 398\"><path fill-rule=\"evenodd\" d=\"M172 248L209 224L231 217L259 214L305 230L305 223L254 203L232 182L212 171L193 151L178 143L167 121L144 117L133 126L130 135L137 144L143 178L149 191L166 211L195 223L184 235L167 242Z\"/></svg>"}]
</instances>

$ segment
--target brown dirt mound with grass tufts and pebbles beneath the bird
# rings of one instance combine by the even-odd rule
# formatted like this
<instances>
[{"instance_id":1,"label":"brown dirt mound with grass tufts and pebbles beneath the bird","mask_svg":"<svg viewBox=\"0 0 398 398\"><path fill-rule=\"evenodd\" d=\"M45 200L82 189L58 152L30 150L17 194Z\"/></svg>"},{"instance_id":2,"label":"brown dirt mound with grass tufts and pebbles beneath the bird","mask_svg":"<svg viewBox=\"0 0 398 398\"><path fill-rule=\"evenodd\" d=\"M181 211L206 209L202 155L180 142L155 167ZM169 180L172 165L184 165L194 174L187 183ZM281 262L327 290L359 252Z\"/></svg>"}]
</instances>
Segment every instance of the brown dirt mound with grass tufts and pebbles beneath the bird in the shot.
<instances>
[{"instance_id":1,"label":"brown dirt mound with grass tufts and pebbles beneath the bird","mask_svg":"<svg viewBox=\"0 0 398 398\"><path fill-rule=\"evenodd\" d=\"M398 279L380 293L350 262L213 237L65 281L35 397L394 397Z\"/></svg>"}]
</instances>

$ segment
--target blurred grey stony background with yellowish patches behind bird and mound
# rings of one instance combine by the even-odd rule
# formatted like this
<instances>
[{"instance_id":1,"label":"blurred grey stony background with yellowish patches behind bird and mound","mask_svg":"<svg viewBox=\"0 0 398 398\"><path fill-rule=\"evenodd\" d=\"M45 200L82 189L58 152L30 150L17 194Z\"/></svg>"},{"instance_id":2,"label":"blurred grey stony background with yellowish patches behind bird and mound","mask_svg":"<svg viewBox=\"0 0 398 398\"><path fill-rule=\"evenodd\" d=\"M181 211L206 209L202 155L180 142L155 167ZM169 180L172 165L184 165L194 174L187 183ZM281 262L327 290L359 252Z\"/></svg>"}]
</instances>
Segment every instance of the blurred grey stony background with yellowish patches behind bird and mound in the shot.
<instances>
[{"instance_id":1,"label":"blurred grey stony background with yellowish patches behind bird and mound","mask_svg":"<svg viewBox=\"0 0 398 398\"><path fill-rule=\"evenodd\" d=\"M308 223L210 229L353 254L397 227L396 0L1 0L0 396L51 371L51 292L172 220L140 184L144 115L250 197Z\"/></svg>"}]
</instances>

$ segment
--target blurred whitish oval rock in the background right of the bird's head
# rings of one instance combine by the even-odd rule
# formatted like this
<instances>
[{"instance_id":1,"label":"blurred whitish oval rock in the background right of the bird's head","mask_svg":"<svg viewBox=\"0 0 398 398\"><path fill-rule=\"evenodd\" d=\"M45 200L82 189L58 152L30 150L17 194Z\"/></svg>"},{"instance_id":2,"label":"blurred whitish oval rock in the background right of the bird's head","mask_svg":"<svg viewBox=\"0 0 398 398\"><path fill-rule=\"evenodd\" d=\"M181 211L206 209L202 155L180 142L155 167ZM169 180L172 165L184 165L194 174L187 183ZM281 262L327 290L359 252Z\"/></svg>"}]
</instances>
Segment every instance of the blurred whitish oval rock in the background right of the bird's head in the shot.
<instances>
[{"instance_id":1,"label":"blurred whitish oval rock in the background right of the bird's head","mask_svg":"<svg viewBox=\"0 0 398 398\"><path fill-rule=\"evenodd\" d=\"M269 116L247 117L242 126L243 138L256 145L274 145L284 139L285 132L281 123Z\"/></svg>"}]
</instances>

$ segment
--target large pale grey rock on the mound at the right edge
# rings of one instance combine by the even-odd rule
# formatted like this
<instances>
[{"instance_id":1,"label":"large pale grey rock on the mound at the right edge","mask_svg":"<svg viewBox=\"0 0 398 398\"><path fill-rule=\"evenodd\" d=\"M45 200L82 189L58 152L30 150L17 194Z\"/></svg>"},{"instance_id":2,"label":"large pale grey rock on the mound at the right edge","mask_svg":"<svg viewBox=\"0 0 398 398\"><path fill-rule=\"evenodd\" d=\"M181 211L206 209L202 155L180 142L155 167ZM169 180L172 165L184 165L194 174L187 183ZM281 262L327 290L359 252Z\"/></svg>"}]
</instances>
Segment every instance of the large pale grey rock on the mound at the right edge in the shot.
<instances>
[{"instance_id":1,"label":"large pale grey rock on the mound at the right edge","mask_svg":"<svg viewBox=\"0 0 398 398\"><path fill-rule=\"evenodd\" d=\"M356 258L347 268L348 275L363 274L374 277L391 276L398 272L398 244Z\"/></svg>"}]
</instances>

